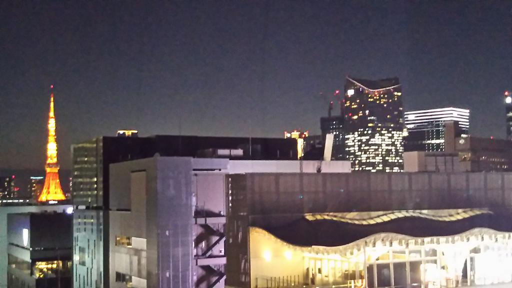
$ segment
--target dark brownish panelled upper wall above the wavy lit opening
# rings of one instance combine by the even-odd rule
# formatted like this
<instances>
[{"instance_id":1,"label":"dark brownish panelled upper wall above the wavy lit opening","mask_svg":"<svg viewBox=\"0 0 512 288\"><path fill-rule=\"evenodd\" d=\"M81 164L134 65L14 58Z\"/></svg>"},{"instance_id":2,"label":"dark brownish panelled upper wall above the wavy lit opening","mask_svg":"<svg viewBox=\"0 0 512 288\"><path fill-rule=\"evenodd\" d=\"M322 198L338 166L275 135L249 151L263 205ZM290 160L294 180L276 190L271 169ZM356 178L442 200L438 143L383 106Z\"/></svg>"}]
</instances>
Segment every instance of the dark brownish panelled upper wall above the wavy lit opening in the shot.
<instances>
[{"instance_id":1,"label":"dark brownish panelled upper wall above the wavy lit opening","mask_svg":"<svg viewBox=\"0 0 512 288\"><path fill-rule=\"evenodd\" d=\"M231 193L246 202L248 215L512 206L512 173L506 172L229 177L232 187L236 182L243 189Z\"/></svg>"}]
</instances>

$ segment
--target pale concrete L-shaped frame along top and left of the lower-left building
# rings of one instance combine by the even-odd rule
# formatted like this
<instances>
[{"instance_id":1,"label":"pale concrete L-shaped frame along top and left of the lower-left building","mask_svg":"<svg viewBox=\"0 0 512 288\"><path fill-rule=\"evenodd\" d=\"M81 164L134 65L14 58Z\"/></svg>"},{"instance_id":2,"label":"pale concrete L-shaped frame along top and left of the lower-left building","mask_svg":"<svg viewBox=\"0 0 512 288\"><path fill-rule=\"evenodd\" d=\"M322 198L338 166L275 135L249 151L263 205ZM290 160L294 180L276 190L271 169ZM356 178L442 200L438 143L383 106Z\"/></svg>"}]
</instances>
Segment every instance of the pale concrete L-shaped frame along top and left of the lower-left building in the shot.
<instances>
[{"instance_id":1,"label":"pale concrete L-shaped frame along top and left of the lower-left building","mask_svg":"<svg viewBox=\"0 0 512 288\"><path fill-rule=\"evenodd\" d=\"M43 211L64 212L69 207L71 205L0 207L0 288L7 287L7 215Z\"/></svg>"}]
</instances>

